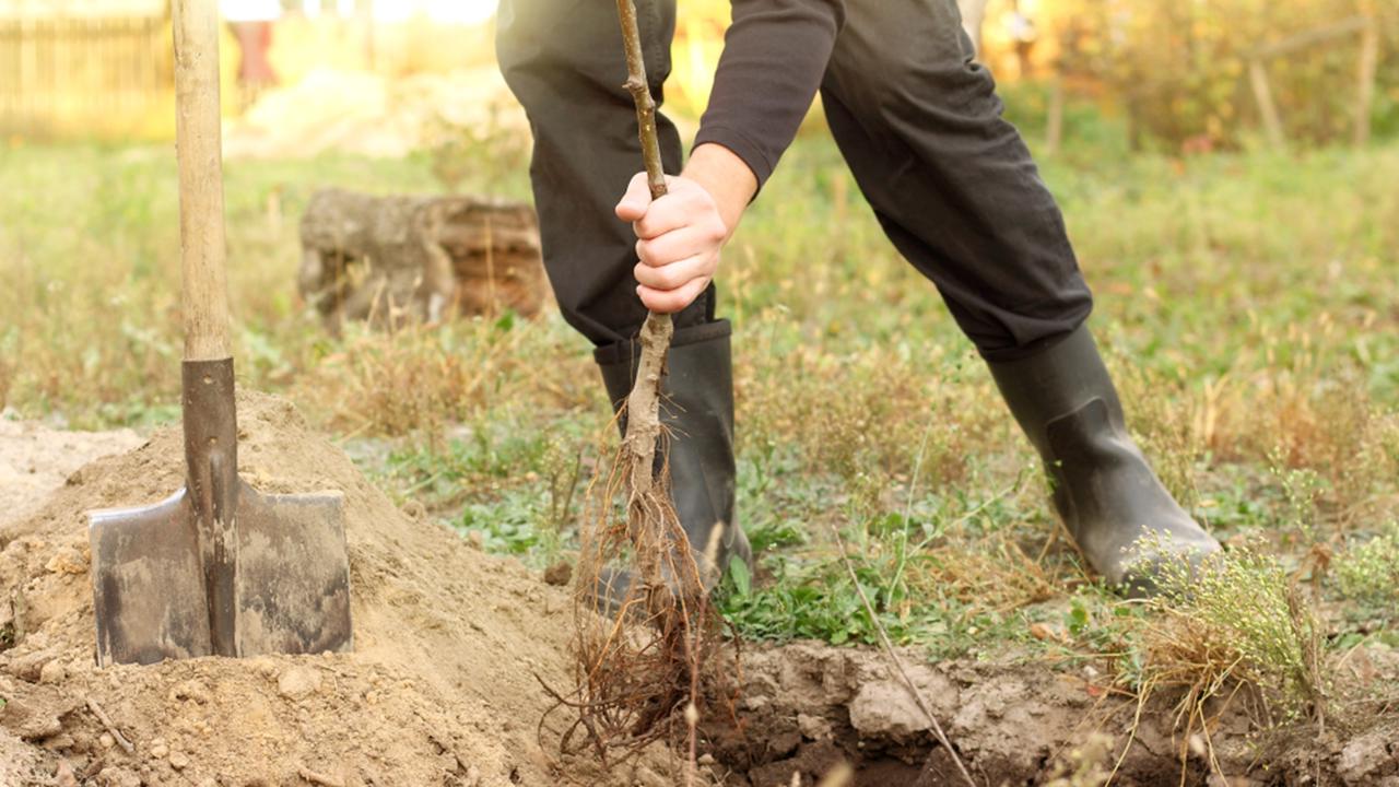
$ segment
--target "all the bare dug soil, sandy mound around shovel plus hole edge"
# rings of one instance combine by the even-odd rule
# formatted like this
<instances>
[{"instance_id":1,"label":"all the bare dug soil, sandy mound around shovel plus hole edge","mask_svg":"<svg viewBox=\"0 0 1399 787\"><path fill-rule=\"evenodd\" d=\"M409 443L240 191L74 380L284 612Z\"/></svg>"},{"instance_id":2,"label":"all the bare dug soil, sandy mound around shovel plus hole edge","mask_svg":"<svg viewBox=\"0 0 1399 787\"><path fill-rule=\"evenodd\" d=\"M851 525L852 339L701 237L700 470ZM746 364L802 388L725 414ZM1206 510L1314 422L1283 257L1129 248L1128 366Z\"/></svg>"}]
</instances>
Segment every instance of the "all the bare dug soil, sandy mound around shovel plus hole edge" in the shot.
<instances>
[{"instance_id":1,"label":"all the bare dug soil, sandy mound around shovel plus hole edge","mask_svg":"<svg viewBox=\"0 0 1399 787\"><path fill-rule=\"evenodd\" d=\"M569 681L564 590L399 510L285 402L241 396L239 424L243 476L263 492L344 492L354 651L98 669L85 513L178 489L179 430L133 447L130 433L0 424L0 787L686 783L659 748L609 773L557 763L540 682ZM8 483L21 475L34 476L22 490ZM1363 695L1399 678L1393 653L1357 653L1335 665L1337 683ZM979 784L1072 772L1063 784L1098 784L1125 749L1119 784L1399 787L1384 704L1357 704L1372 709L1358 724L1260 738L1237 703L1206 745L1174 730L1165 700L1133 724L1135 704L1091 671L905 660ZM697 784L811 786L839 762L860 786L961 783L879 651L748 647L734 713L701 727Z\"/></svg>"}]
</instances>

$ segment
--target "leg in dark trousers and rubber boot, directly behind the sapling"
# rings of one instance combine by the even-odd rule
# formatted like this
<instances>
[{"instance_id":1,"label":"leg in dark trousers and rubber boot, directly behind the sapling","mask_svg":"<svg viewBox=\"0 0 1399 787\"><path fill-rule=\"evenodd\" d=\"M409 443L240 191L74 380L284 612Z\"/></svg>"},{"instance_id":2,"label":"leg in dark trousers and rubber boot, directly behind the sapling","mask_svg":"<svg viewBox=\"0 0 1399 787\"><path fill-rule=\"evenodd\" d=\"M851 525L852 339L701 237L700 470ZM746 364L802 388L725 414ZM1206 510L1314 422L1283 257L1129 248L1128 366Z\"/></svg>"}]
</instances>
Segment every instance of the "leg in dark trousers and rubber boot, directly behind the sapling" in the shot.
<instances>
[{"instance_id":1,"label":"leg in dark trousers and rubber boot, directly behind the sapling","mask_svg":"<svg viewBox=\"0 0 1399 787\"><path fill-rule=\"evenodd\" d=\"M674 0L638 0L651 92L662 102L670 71ZM497 50L534 134L530 179L544 267L564 318L597 350L609 399L618 406L635 377L631 340L646 318L632 267L637 237L613 207L641 171L637 111L627 78L617 8L602 0L502 0ZM679 172L680 137L656 115L662 160ZM734 521L733 378L729 323L715 321L715 288L674 315L662 417L672 433L670 492L676 514L716 581L730 559L750 560ZM712 542L712 543L711 543ZM708 557L709 560L705 560ZM609 573L616 602L625 573Z\"/></svg>"}]
</instances>

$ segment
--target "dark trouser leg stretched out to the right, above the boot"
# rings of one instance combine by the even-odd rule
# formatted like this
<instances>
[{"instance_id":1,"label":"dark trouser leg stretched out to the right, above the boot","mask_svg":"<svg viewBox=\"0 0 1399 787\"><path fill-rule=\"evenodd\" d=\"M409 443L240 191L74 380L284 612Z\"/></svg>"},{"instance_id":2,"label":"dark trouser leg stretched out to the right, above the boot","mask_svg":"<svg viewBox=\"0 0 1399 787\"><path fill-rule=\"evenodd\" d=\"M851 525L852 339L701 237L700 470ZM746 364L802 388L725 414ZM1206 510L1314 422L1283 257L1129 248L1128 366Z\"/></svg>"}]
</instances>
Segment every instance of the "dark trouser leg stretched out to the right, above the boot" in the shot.
<instances>
[{"instance_id":1,"label":"dark trouser leg stretched out to the right, above the boot","mask_svg":"<svg viewBox=\"0 0 1399 787\"><path fill-rule=\"evenodd\" d=\"M1032 354L1093 308L1063 217L954 0L849 3L821 85L880 224L988 360Z\"/></svg>"}]
</instances>

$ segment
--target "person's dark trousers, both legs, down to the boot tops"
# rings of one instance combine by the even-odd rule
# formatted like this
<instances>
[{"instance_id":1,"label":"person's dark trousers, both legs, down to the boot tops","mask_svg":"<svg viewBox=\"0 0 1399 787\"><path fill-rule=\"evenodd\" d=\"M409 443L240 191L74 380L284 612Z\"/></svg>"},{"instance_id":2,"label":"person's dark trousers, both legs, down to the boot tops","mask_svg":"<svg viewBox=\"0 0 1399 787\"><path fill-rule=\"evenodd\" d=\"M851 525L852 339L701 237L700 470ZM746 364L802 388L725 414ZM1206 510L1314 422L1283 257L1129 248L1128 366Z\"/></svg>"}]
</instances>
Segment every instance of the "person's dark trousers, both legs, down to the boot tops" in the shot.
<instances>
[{"instance_id":1,"label":"person's dark trousers, both legs, down to the boot tops","mask_svg":"<svg viewBox=\"0 0 1399 787\"><path fill-rule=\"evenodd\" d=\"M674 0L638 8L660 102ZM971 50L956 0L851 1L821 101L890 241L986 360L1014 360L1077 328L1093 297L1059 207ZM613 206L641 169L641 147L616 6L502 0L497 52L534 133L534 204L564 318L597 346L628 340L646 312L631 273L637 238ZM663 116L658 127L666 171L679 172L680 137ZM713 311L709 287L677 329Z\"/></svg>"}]
</instances>

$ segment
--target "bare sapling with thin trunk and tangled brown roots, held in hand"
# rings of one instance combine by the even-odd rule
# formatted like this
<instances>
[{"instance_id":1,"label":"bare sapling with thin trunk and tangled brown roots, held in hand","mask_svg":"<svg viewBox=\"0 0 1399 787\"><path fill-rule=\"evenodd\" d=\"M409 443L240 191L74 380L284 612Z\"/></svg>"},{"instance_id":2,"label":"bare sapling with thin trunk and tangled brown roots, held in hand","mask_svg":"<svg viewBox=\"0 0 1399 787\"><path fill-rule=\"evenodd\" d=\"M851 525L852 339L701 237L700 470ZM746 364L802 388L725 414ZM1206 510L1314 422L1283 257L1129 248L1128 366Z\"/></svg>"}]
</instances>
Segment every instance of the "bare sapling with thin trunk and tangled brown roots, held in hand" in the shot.
<instances>
[{"instance_id":1,"label":"bare sapling with thin trunk and tangled brown roots, held in hand","mask_svg":"<svg viewBox=\"0 0 1399 787\"><path fill-rule=\"evenodd\" d=\"M627 53L625 87L637 104L651 195L659 199L666 182L656 104L646 84L632 0L617 0L617 13ZM649 314L641 328L637 381L625 405L627 434L610 468L589 486L583 507L574 597L576 688L564 696L544 686L557 702L544 721L554 711L571 717L560 732L561 751L590 751L609 765L674 735L681 724L693 752L701 699L732 696L729 683L737 674L736 664L727 671L706 669L720 644L722 620L670 501L665 455L658 457L666 437L660 382L672 333L665 314ZM618 496L627 501L625 520L617 510ZM630 564L630 573L618 573L621 563ZM620 577L625 581L616 583ZM691 756L687 783L694 770Z\"/></svg>"}]
</instances>

